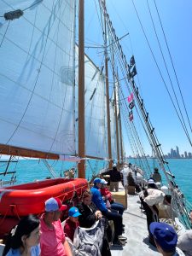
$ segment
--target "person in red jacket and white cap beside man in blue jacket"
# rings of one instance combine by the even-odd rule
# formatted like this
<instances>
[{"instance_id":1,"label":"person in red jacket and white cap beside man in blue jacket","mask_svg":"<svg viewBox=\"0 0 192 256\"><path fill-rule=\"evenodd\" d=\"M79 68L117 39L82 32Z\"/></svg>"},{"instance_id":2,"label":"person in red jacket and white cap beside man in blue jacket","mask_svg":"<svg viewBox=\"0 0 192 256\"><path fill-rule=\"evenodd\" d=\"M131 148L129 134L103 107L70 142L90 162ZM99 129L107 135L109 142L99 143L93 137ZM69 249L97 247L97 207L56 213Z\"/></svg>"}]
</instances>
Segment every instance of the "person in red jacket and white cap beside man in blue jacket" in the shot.
<instances>
[{"instance_id":1,"label":"person in red jacket and white cap beside man in blue jacket","mask_svg":"<svg viewBox=\"0 0 192 256\"><path fill-rule=\"evenodd\" d=\"M116 210L117 212L119 212L119 214L122 215L124 213L125 207L122 204L120 204L119 202L116 202L113 200L113 196L107 187L108 182L105 181L104 178L102 179L101 183L102 183L102 188L100 189L100 191L101 191L102 196L104 197L106 206L108 207L108 209Z\"/></svg>"}]
</instances>

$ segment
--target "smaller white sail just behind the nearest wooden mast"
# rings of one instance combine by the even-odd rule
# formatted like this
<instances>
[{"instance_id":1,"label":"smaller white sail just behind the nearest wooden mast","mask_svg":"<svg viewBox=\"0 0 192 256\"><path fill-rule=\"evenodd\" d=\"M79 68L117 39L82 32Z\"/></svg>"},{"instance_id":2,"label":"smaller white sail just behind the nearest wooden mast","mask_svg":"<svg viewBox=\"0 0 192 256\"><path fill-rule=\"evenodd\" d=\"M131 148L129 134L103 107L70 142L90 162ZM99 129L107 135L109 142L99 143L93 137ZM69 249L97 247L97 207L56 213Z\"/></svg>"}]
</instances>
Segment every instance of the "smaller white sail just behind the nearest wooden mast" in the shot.
<instances>
[{"instance_id":1,"label":"smaller white sail just behind the nearest wooden mast","mask_svg":"<svg viewBox=\"0 0 192 256\"><path fill-rule=\"evenodd\" d=\"M78 47L76 48L76 81L78 84ZM98 67L84 55L84 122L85 154L108 158L106 137L105 77Z\"/></svg>"}]
</instances>

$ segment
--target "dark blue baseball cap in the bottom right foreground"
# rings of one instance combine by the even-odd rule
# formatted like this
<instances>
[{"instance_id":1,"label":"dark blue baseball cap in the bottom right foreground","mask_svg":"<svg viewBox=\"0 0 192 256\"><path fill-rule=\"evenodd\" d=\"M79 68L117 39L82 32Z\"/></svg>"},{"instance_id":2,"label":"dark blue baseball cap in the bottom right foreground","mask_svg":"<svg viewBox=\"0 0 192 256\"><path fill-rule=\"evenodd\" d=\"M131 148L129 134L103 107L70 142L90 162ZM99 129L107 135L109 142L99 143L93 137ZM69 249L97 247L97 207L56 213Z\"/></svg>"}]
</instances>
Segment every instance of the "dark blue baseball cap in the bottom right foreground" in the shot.
<instances>
[{"instance_id":1,"label":"dark blue baseball cap in the bottom right foreground","mask_svg":"<svg viewBox=\"0 0 192 256\"><path fill-rule=\"evenodd\" d=\"M171 225L153 222L150 224L149 230L165 252L172 252L177 246L177 233Z\"/></svg>"}]
</instances>

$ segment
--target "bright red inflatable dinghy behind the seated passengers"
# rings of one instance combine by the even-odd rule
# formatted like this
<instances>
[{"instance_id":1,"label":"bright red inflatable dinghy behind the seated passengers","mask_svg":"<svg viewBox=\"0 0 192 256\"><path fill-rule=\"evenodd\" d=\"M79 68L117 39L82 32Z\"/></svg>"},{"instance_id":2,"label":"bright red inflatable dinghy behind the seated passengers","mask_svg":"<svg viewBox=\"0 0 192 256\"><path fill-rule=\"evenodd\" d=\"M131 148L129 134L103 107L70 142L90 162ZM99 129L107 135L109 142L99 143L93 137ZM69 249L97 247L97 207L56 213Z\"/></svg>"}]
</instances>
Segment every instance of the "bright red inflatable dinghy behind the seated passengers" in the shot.
<instances>
[{"instance_id":1,"label":"bright red inflatable dinghy behind the seated passengers","mask_svg":"<svg viewBox=\"0 0 192 256\"><path fill-rule=\"evenodd\" d=\"M44 201L58 197L62 202L80 197L88 189L84 178L55 178L25 183L0 189L0 214L4 217L21 217L44 212Z\"/></svg>"}]
</instances>

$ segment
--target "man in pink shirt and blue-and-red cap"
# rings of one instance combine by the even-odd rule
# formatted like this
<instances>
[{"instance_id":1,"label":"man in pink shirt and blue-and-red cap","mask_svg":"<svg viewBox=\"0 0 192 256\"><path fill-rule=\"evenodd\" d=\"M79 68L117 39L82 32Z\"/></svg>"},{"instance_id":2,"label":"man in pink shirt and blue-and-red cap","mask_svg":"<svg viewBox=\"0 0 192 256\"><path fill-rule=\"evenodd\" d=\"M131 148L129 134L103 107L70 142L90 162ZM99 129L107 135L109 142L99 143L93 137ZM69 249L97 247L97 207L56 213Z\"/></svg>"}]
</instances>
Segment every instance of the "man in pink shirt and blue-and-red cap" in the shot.
<instances>
[{"instance_id":1,"label":"man in pink shirt and blue-and-red cap","mask_svg":"<svg viewBox=\"0 0 192 256\"><path fill-rule=\"evenodd\" d=\"M71 248L61 226L61 212L67 210L61 200L51 197L45 201L45 212L41 216L41 256L72 256Z\"/></svg>"}]
</instances>

